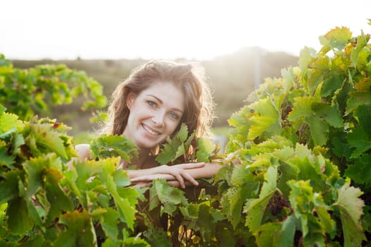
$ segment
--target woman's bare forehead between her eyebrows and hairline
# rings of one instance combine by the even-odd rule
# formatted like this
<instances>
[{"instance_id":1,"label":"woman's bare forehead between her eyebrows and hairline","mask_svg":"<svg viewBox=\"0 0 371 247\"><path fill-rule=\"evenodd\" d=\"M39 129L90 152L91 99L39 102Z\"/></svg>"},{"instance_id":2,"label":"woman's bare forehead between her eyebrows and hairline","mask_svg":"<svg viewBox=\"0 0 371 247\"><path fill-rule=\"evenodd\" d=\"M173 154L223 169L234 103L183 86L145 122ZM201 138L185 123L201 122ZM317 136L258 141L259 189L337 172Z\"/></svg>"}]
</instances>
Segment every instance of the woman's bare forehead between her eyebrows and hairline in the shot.
<instances>
[{"instance_id":1,"label":"woman's bare forehead between her eyebrows and hairline","mask_svg":"<svg viewBox=\"0 0 371 247\"><path fill-rule=\"evenodd\" d=\"M168 107L173 107L184 111L184 92L177 88L173 83L166 80L159 80L143 90L141 97L156 97Z\"/></svg>"}]
</instances>

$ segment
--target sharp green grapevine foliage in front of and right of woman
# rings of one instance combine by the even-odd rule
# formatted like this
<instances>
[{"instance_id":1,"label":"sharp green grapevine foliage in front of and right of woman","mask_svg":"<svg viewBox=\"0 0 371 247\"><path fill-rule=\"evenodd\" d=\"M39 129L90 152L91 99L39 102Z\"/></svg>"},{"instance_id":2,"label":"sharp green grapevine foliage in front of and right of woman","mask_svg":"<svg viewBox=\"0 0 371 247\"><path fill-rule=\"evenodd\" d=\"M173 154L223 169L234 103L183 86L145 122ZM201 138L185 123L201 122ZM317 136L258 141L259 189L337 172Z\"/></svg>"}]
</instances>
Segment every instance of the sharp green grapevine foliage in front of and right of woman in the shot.
<instances>
[{"instance_id":1,"label":"sharp green grapevine foliage in front of and right of woman","mask_svg":"<svg viewBox=\"0 0 371 247\"><path fill-rule=\"evenodd\" d=\"M187 126L167 140L161 164L223 158L213 179L185 190L133 186L118 169L137 155L123 136L93 139L95 159L67 169L68 127L4 104L3 72L0 246L370 245L370 35L342 27L319 40L232 114L225 154L204 138L188 154Z\"/></svg>"}]
</instances>

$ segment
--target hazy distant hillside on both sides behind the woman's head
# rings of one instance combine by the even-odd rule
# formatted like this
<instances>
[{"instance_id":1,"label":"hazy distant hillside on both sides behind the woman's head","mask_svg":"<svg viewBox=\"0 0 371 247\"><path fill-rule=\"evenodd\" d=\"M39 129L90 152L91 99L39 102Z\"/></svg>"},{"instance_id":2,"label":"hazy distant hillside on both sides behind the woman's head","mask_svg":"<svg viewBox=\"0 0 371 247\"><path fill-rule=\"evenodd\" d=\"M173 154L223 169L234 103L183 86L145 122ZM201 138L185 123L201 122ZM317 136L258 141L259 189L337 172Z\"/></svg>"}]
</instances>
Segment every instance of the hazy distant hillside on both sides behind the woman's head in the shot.
<instances>
[{"instance_id":1,"label":"hazy distant hillside on both sides behind the woman's head","mask_svg":"<svg viewBox=\"0 0 371 247\"><path fill-rule=\"evenodd\" d=\"M6 54L5 54L6 55ZM179 59L184 60L184 59ZM104 93L110 97L116 85L126 78L131 69L143 64L142 59L95 59L95 60L12 60L17 68L30 68L37 64L66 64L69 68L86 71L88 76L98 80ZM213 90L218 118L214 126L227 126L232 112L246 104L255 85L264 78L281 77L281 69L298 65L298 57L285 52L268 52L260 47L245 47L232 54L218 56L208 61L199 61L206 70L208 82ZM74 104L57 107L55 116L72 126L74 131L92 131L88 113L82 113ZM95 126L96 127L96 126Z\"/></svg>"}]
</instances>

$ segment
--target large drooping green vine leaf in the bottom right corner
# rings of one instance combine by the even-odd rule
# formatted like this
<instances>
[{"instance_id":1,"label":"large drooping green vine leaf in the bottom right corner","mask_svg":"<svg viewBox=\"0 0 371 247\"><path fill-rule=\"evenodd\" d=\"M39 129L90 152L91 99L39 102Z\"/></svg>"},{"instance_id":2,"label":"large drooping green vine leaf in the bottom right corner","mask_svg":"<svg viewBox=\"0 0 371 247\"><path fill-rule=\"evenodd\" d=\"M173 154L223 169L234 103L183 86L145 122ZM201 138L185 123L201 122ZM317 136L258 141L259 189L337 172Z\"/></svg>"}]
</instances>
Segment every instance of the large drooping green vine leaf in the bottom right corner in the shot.
<instances>
[{"instance_id":1,"label":"large drooping green vine leaf in the bottom right corner","mask_svg":"<svg viewBox=\"0 0 371 247\"><path fill-rule=\"evenodd\" d=\"M343 227L344 246L361 246L363 240L366 240L360 224L360 216L363 214L363 200L359 198L362 195L359 188L350 187L345 183L338 190L338 200L335 206L340 211L341 225Z\"/></svg>"}]
</instances>

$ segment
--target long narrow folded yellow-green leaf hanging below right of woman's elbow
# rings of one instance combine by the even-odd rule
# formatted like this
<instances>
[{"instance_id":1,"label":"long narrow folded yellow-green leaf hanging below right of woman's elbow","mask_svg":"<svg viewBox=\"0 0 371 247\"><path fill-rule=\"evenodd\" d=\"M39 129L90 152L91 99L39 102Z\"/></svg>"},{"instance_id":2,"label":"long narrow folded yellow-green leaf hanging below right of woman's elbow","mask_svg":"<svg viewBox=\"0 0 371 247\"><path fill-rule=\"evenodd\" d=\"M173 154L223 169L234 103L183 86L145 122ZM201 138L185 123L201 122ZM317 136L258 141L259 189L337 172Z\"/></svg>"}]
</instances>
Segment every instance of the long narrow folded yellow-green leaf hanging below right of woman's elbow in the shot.
<instances>
[{"instance_id":1,"label":"long narrow folded yellow-green leaf hanging below right of woman's elbow","mask_svg":"<svg viewBox=\"0 0 371 247\"><path fill-rule=\"evenodd\" d=\"M249 227L253 233L259 229L261 225L261 219L263 219L266 205L271 199L272 195L276 192L277 182L277 168L269 167L264 174L264 183L261 186L259 198L249 199L244 208L244 212L247 214L245 225Z\"/></svg>"}]
</instances>

